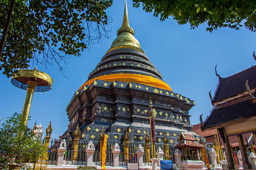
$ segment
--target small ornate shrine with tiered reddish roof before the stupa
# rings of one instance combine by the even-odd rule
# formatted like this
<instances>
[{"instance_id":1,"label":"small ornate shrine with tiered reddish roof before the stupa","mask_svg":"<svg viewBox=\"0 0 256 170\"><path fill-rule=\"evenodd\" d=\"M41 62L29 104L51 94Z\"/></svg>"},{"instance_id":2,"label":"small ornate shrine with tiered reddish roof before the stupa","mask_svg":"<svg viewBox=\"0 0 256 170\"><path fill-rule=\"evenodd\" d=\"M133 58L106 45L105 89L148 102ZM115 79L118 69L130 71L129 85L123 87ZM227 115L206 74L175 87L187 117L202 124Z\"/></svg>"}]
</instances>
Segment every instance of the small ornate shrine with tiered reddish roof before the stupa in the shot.
<instances>
[{"instance_id":1,"label":"small ornate shrine with tiered reddish roof before the stupa","mask_svg":"<svg viewBox=\"0 0 256 170\"><path fill-rule=\"evenodd\" d=\"M198 153L204 146L196 142L192 133L180 132L178 143L174 147L181 150L182 160L200 160Z\"/></svg>"}]
</instances>

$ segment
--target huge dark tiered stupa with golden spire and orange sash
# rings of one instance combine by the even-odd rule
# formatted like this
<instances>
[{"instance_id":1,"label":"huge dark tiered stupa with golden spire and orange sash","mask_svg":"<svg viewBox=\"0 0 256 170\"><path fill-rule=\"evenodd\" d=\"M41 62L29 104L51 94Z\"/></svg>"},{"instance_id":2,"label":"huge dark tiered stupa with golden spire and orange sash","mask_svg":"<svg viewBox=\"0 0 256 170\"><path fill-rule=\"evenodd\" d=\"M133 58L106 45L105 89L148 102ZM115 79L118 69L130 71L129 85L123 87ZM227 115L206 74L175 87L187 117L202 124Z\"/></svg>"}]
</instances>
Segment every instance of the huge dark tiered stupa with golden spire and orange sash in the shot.
<instances>
[{"instance_id":1,"label":"huge dark tiered stupa with golden spire and orange sash","mask_svg":"<svg viewBox=\"0 0 256 170\"><path fill-rule=\"evenodd\" d=\"M130 143L144 143L150 132L149 98L156 121L156 143L177 143L180 132L191 131L189 110L193 100L173 92L150 62L129 25L125 0L123 24L110 49L67 105L70 124L61 138L74 139L77 125L80 140L100 141L102 127L108 141L123 141L128 130ZM197 141L199 136L195 135Z\"/></svg>"}]
</instances>

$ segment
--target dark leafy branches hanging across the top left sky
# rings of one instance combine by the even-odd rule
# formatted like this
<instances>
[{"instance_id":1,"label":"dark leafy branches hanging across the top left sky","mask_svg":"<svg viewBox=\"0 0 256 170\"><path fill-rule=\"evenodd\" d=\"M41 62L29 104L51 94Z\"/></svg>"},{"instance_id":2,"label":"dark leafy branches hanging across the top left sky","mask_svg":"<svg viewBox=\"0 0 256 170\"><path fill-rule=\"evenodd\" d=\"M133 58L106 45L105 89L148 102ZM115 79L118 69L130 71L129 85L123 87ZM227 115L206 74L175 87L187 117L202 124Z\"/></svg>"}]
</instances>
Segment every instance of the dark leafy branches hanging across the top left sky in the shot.
<instances>
[{"instance_id":1,"label":"dark leafy branches hanging across the top left sky","mask_svg":"<svg viewBox=\"0 0 256 170\"><path fill-rule=\"evenodd\" d=\"M10 77L29 62L53 65L60 70L67 58L109 37L105 13L113 0L15 0L0 70ZM0 33L3 35L10 0L0 0ZM0 34L1 35L1 34Z\"/></svg>"}]
</instances>

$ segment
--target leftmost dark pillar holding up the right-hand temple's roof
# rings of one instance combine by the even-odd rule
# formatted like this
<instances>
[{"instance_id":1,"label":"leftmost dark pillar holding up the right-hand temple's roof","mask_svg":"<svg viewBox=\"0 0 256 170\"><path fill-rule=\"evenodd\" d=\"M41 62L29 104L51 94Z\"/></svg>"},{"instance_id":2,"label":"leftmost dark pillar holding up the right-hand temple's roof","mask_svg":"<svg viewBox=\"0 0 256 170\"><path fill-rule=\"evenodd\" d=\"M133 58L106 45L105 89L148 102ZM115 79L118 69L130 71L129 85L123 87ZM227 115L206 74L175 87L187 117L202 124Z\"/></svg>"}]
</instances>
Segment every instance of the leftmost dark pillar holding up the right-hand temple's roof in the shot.
<instances>
[{"instance_id":1,"label":"leftmost dark pillar holding up the right-hand temple's roof","mask_svg":"<svg viewBox=\"0 0 256 170\"><path fill-rule=\"evenodd\" d=\"M230 149L230 143L229 143L229 139L226 134L225 128L221 128L219 131L222 135L221 137L222 138L224 137L223 142L224 142L224 149L226 152L226 158L227 158L227 162L228 162L228 169L235 169L234 161L232 158L232 152Z\"/></svg>"}]
</instances>

